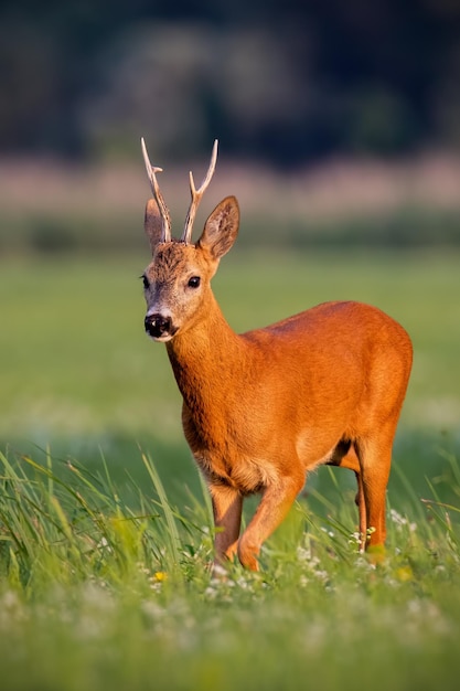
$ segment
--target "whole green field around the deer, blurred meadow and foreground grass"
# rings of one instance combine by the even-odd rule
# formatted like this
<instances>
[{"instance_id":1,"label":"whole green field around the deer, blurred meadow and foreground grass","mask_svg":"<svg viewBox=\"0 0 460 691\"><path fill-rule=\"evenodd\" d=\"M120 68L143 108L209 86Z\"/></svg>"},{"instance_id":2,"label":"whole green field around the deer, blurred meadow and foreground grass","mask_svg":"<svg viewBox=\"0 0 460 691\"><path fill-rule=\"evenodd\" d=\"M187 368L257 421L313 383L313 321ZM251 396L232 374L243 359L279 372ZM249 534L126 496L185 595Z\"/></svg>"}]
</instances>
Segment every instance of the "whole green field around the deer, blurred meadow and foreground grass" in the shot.
<instances>
[{"instance_id":1,"label":"whole green field around the deer, blurred meadow and foreground grass","mask_svg":"<svg viewBox=\"0 0 460 691\"><path fill-rule=\"evenodd\" d=\"M223 261L214 288L236 330L359 299L406 327L415 364L386 562L355 552L352 474L322 468L263 572L217 581L180 395L143 334L147 261L0 265L1 688L457 689L460 256Z\"/></svg>"}]
</instances>

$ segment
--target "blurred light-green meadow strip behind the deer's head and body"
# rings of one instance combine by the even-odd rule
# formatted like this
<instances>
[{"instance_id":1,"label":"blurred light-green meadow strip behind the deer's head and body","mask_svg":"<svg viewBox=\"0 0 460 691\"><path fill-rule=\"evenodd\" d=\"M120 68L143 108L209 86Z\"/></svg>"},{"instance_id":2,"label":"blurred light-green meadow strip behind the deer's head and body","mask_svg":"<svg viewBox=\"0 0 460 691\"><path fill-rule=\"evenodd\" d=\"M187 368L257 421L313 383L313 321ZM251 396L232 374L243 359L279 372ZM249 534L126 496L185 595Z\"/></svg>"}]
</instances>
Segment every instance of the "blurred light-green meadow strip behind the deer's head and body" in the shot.
<instances>
[{"instance_id":1,"label":"blurred light-green meadow strip behind the deer's head and body","mask_svg":"<svg viewBox=\"0 0 460 691\"><path fill-rule=\"evenodd\" d=\"M164 349L143 336L139 257L10 261L1 266L0 435L55 432L180 436L179 394ZM215 291L236 330L327 299L378 305L408 329L416 358L404 421L451 426L460 411L459 256L238 254ZM404 298L404 299L403 299ZM25 433L25 434L24 434Z\"/></svg>"}]
</instances>

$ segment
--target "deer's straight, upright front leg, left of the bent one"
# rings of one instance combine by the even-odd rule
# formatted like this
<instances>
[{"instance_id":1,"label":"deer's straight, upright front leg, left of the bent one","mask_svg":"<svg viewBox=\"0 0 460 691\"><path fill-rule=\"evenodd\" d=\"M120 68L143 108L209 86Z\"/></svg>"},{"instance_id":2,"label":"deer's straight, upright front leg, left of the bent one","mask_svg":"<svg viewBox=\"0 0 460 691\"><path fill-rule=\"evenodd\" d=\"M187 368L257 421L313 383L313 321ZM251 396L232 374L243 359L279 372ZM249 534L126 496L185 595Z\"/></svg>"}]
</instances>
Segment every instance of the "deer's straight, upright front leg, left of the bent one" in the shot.
<instances>
[{"instance_id":1,"label":"deer's straight, upright front leg, left of the bent one","mask_svg":"<svg viewBox=\"0 0 460 691\"><path fill-rule=\"evenodd\" d=\"M243 497L232 487L222 485L210 485L210 492L216 529L214 563L222 564L227 559L232 560L237 551Z\"/></svg>"}]
</instances>

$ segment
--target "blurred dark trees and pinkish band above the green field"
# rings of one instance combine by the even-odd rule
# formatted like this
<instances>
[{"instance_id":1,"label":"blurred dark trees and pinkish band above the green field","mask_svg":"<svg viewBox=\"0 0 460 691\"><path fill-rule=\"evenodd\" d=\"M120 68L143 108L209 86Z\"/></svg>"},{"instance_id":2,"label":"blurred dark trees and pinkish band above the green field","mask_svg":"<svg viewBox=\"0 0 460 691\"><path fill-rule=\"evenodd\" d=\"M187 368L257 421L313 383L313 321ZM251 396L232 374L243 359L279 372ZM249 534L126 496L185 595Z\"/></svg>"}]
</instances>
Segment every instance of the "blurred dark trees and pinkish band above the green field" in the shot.
<instances>
[{"instance_id":1,"label":"blurred dark trees and pinkish band above the green field","mask_svg":"<svg viewBox=\"0 0 460 691\"><path fill-rule=\"evenodd\" d=\"M243 243L460 244L456 0L2 0L0 77L3 253L140 247L140 136L180 221L220 139Z\"/></svg>"}]
</instances>

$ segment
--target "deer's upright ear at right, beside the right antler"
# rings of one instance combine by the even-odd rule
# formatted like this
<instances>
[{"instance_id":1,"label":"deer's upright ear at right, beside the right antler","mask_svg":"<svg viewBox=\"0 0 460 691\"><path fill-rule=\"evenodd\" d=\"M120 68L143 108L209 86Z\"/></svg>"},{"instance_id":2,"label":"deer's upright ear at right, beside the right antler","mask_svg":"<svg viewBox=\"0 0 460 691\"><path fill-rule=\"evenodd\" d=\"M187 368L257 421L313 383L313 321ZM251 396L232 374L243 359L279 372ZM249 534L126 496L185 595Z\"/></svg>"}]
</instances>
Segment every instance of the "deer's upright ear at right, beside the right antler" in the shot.
<instances>
[{"instance_id":1,"label":"deer's upright ear at right, beside the right antler","mask_svg":"<svg viewBox=\"0 0 460 691\"><path fill-rule=\"evenodd\" d=\"M238 202L235 196L226 196L207 219L196 246L207 249L214 259L220 259L232 248L238 226Z\"/></svg>"}]
</instances>

